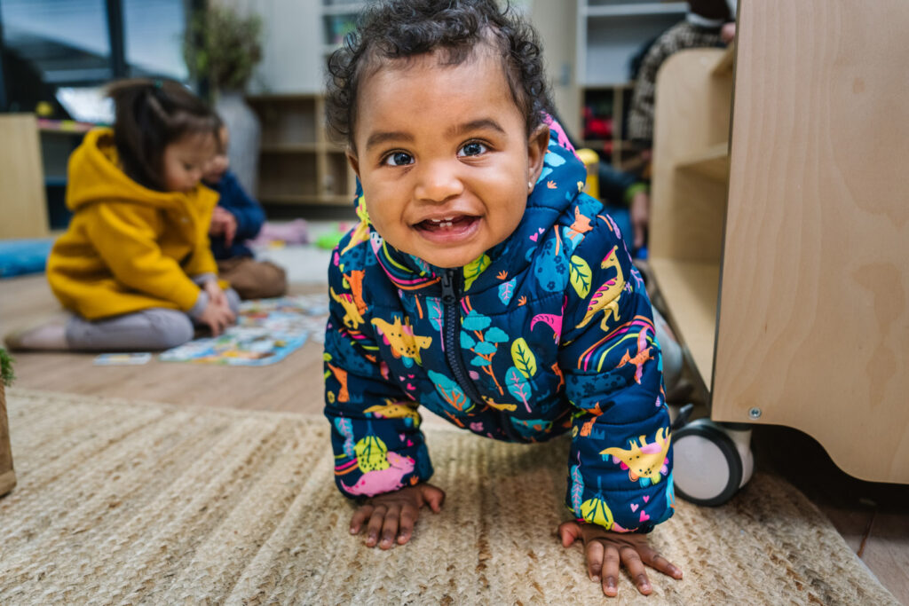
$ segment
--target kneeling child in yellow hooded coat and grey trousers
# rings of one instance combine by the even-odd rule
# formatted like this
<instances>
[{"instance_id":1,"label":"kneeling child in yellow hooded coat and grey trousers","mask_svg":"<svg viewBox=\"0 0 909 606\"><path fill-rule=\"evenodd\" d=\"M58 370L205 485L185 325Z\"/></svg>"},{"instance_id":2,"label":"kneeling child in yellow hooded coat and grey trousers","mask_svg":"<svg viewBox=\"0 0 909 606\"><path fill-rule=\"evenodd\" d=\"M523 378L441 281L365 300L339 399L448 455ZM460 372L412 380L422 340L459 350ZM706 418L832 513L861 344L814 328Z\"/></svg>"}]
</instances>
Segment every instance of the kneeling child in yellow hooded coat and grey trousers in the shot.
<instances>
[{"instance_id":1,"label":"kneeling child in yellow hooded coat and grey trousers","mask_svg":"<svg viewBox=\"0 0 909 606\"><path fill-rule=\"evenodd\" d=\"M108 92L113 129L70 157L73 218L47 260L72 314L7 336L10 349L147 351L221 333L239 297L223 290L208 241L218 194L200 184L220 120L182 84L129 80ZM226 284L225 284L226 285Z\"/></svg>"}]
</instances>

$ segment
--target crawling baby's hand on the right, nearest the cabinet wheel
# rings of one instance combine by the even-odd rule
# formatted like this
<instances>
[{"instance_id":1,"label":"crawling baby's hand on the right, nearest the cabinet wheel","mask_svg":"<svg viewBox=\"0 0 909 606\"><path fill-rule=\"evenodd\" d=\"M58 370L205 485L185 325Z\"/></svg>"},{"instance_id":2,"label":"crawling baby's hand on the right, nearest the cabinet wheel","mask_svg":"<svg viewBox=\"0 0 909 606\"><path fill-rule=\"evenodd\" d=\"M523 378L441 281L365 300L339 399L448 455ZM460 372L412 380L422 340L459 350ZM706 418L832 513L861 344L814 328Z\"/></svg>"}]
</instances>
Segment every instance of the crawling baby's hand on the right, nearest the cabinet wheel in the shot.
<instances>
[{"instance_id":1,"label":"crawling baby's hand on the right, nearest the cabinet wheel","mask_svg":"<svg viewBox=\"0 0 909 606\"><path fill-rule=\"evenodd\" d=\"M682 571L654 551L645 534L610 532L596 524L579 522L563 522L558 532L563 547L578 539L584 541L587 575L591 581L602 583L603 593L608 597L618 595L620 565L628 569L637 591L644 595L653 591L644 564L674 579L682 578Z\"/></svg>"}]
</instances>

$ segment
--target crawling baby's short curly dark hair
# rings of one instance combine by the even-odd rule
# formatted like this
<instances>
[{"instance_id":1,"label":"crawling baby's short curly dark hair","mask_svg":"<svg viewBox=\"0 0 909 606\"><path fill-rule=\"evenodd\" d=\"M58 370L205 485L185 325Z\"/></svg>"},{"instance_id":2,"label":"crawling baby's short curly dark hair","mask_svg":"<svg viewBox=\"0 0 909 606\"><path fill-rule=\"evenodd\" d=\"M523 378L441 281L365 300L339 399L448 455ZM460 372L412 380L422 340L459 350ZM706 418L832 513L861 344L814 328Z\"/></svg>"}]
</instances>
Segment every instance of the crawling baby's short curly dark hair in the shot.
<instances>
[{"instance_id":1,"label":"crawling baby's short curly dark hair","mask_svg":"<svg viewBox=\"0 0 909 606\"><path fill-rule=\"evenodd\" d=\"M544 114L552 114L542 48L534 28L496 0L381 0L367 5L356 31L328 59L329 130L353 147L357 88L376 59L441 51L442 64L460 65L481 43L502 56L514 104L531 134L543 124Z\"/></svg>"}]
</instances>

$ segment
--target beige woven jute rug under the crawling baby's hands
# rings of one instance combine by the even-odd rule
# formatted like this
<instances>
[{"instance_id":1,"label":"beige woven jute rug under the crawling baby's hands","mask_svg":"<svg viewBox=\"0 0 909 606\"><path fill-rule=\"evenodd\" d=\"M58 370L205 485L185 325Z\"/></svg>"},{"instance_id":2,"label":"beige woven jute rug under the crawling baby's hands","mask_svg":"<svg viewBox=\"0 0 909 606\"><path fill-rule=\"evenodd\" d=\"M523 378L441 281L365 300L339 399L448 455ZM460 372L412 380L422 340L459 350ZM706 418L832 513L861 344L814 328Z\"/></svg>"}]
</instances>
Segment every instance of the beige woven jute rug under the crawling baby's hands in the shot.
<instances>
[{"instance_id":1,"label":"beige woven jute rug under the crawling baby's hands","mask_svg":"<svg viewBox=\"0 0 909 606\"><path fill-rule=\"evenodd\" d=\"M301 397L315 397L301 394ZM16 476L0 499L0 604L590 604L554 529L567 442L427 430L443 512L368 549L347 531L321 417L11 390ZM896 604L791 485L757 474L652 534L684 580L615 603Z\"/></svg>"}]
</instances>

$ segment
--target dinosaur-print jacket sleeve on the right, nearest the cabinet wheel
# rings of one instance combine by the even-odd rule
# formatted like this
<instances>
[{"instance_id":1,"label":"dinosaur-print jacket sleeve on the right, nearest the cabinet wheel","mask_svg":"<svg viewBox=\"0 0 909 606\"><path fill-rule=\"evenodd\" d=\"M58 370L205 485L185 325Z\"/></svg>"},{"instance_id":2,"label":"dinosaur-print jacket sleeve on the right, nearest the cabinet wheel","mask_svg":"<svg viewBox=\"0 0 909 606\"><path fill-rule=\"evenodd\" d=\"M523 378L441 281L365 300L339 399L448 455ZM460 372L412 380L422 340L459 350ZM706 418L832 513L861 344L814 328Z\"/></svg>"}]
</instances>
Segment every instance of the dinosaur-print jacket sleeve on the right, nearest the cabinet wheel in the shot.
<instances>
[{"instance_id":1,"label":"dinosaur-print jacket sleeve on the right, nearest the cabinet wheel","mask_svg":"<svg viewBox=\"0 0 909 606\"><path fill-rule=\"evenodd\" d=\"M574 406L568 508L612 531L648 532L673 513L672 449L659 344L644 282L601 214L574 251L562 368Z\"/></svg>"}]
</instances>

